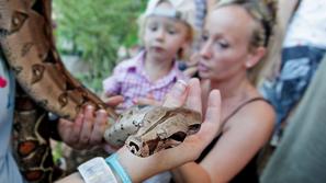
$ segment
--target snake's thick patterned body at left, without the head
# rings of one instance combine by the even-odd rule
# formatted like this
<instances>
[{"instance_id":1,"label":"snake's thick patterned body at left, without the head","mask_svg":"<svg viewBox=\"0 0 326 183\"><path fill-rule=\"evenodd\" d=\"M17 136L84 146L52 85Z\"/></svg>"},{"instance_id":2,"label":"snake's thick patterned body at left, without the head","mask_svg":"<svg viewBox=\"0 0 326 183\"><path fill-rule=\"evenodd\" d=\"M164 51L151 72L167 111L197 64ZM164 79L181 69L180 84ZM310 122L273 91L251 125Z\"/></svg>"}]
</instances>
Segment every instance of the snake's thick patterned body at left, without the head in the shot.
<instances>
[{"instance_id":1,"label":"snake's thick patterned body at left, without the head","mask_svg":"<svg viewBox=\"0 0 326 183\"><path fill-rule=\"evenodd\" d=\"M52 34L50 3L50 0L0 1L1 49L23 89L15 102L14 153L30 182L53 182L60 174L52 160L52 125L46 111L74 119L82 106L91 104L105 108L111 117L116 116L63 66Z\"/></svg>"}]
</instances>

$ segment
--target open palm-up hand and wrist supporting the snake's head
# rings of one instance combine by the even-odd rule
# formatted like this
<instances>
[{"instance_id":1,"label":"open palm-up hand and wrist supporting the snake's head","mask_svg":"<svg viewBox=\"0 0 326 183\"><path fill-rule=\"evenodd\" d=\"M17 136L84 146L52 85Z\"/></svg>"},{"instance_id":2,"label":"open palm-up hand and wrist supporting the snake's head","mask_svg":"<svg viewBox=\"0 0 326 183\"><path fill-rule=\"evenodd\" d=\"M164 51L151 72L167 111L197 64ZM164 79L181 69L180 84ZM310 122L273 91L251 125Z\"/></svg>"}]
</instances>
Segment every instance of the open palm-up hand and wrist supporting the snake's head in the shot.
<instances>
[{"instance_id":1,"label":"open palm-up hand and wrist supporting the snake's head","mask_svg":"<svg viewBox=\"0 0 326 183\"><path fill-rule=\"evenodd\" d=\"M182 105L202 112L201 88L198 79L191 79L188 85L178 82L164 102L164 106L168 107ZM213 90L209 96L209 106L201 129L196 134L187 137L178 147L159 151L147 158L136 157L123 147L117 151L119 161L134 182L193 161L217 134L221 124L220 114L221 95L217 90Z\"/></svg>"}]
</instances>

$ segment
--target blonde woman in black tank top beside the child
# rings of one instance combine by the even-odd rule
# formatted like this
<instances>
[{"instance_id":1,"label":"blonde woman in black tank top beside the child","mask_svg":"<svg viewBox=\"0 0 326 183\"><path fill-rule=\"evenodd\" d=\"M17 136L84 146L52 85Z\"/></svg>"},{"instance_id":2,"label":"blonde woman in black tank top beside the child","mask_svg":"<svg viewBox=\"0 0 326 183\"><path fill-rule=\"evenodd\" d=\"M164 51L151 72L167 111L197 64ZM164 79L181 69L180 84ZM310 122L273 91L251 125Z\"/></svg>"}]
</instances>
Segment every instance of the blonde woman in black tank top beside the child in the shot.
<instances>
[{"instance_id":1,"label":"blonde woman in black tank top beside the child","mask_svg":"<svg viewBox=\"0 0 326 183\"><path fill-rule=\"evenodd\" d=\"M195 162L173 170L176 182L258 182L256 158L276 119L255 87L273 26L272 7L222 0L209 14L198 69L203 101L210 91L221 91L222 128Z\"/></svg>"}]
</instances>

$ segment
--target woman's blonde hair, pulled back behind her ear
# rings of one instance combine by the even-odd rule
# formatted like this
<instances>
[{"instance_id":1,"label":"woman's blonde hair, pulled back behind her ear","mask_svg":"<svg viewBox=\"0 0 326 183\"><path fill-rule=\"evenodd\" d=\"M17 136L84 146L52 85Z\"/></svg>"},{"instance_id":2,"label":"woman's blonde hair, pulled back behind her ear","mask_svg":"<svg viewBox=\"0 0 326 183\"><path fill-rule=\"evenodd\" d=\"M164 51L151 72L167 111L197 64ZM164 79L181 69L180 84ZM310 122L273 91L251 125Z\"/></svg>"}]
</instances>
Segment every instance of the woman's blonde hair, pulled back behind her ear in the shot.
<instances>
[{"instance_id":1,"label":"woman's blonde hair, pulled back behind her ear","mask_svg":"<svg viewBox=\"0 0 326 183\"><path fill-rule=\"evenodd\" d=\"M255 26L249 48L263 46L268 49L277 20L276 0L221 0L216 3L215 9L226 5L244 8L257 22L258 26ZM252 83L257 83L265 62L266 60L263 59L249 69L248 77Z\"/></svg>"}]
</instances>

